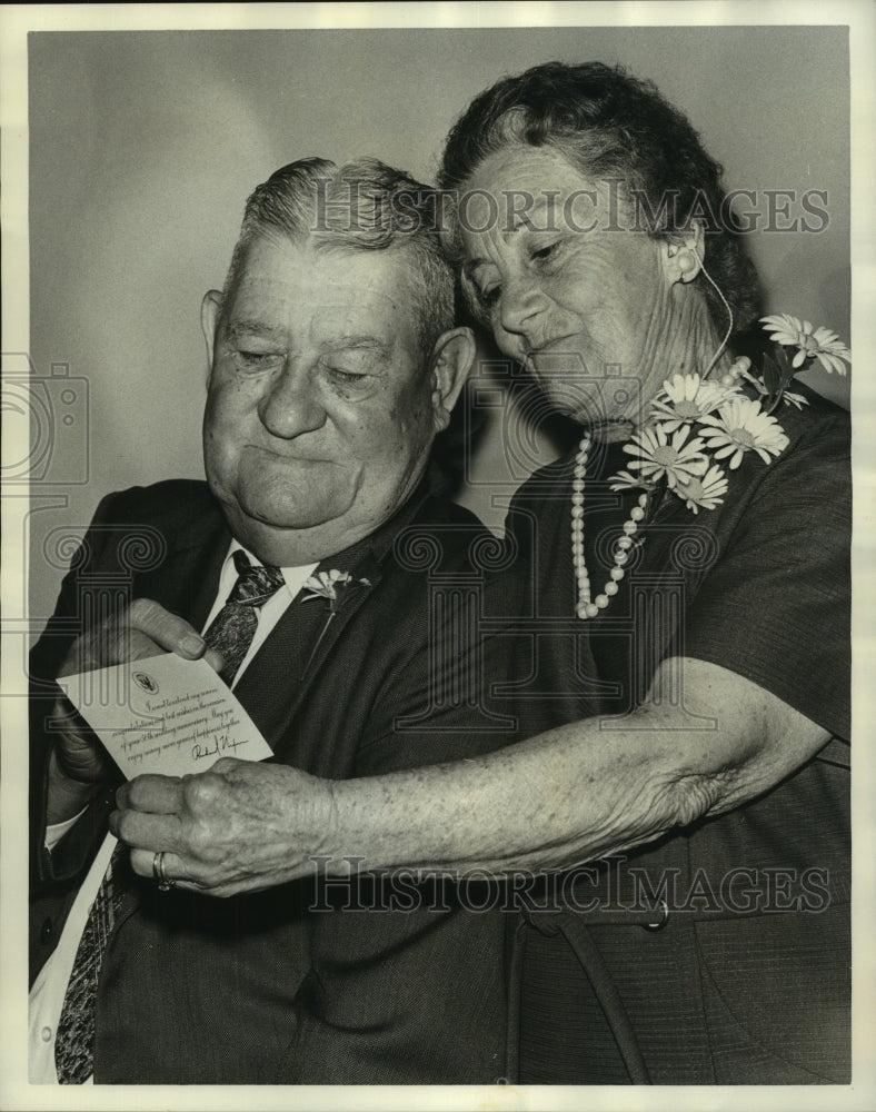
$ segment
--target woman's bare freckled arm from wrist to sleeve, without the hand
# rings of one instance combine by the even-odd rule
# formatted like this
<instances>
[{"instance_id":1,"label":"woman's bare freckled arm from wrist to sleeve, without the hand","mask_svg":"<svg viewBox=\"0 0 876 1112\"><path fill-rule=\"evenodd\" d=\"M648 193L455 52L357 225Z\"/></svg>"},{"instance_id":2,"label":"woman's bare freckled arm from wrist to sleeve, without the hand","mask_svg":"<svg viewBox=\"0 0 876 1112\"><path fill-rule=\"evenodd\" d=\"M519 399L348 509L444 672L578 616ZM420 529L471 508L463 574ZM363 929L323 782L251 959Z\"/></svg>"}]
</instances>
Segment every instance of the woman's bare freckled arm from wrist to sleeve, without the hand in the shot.
<instances>
[{"instance_id":1,"label":"woman's bare freckled arm from wrist to sleeve, without the hand","mask_svg":"<svg viewBox=\"0 0 876 1112\"><path fill-rule=\"evenodd\" d=\"M699 728L695 715L705 716ZM566 867L746 803L828 736L725 668L664 662L648 701L623 721L589 718L475 761L335 783L332 852L376 866Z\"/></svg>"}]
</instances>

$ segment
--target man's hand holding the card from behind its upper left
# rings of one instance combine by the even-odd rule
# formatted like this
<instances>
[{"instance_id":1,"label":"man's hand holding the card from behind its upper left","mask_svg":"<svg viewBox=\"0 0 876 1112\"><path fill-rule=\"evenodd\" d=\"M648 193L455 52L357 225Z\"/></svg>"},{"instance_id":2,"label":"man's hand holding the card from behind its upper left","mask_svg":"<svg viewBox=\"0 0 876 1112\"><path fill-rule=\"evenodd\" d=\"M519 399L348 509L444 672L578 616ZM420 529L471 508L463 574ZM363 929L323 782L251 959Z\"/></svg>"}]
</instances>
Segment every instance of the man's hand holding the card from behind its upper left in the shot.
<instances>
[{"instance_id":1,"label":"man's hand holding the card from behind its upper left","mask_svg":"<svg viewBox=\"0 0 876 1112\"><path fill-rule=\"evenodd\" d=\"M59 676L93 672L113 664L139 661L159 653L177 653L189 661L205 656L217 671L221 657L207 649L203 638L183 618L148 598L135 599L118 617L77 637ZM53 717L64 722L49 763L48 822L62 822L86 805L93 786L115 767L103 747L66 698L59 698Z\"/></svg>"}]
</instances>

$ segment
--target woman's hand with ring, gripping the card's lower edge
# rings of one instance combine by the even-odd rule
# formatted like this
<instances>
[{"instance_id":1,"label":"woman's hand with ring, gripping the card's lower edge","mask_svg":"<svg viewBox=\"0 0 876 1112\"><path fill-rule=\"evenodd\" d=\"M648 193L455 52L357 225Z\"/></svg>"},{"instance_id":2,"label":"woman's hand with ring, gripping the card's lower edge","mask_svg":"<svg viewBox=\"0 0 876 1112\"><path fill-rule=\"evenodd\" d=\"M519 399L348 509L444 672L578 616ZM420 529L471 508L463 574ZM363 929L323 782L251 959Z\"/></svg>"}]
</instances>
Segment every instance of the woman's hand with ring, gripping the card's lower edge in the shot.
<instances>
[{"instance_id":1,"label":"woman's hand with ring, gripping the card's lower edge","mask_svg":"<svg viewBox=\"0 0 876 1112\"><path fill-rule=\"evenodd\" d=\"M230 757L181 780L138 776L116 803L110 830L132 847L136 873L152 876L155 855L165 851L168 877L213 896L311 874L334 830L330 781Z\"/></svg>"}]
</instances>

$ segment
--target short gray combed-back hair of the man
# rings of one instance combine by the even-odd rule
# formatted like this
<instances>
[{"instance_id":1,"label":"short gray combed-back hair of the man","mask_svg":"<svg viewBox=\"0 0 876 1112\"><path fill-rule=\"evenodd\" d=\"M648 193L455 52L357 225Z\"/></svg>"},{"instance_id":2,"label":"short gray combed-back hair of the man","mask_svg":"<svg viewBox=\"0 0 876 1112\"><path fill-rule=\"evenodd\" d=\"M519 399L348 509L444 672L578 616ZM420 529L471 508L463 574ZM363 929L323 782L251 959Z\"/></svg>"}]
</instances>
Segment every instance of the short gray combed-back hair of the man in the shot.
<instances>
[{"instance_id":1,"label":"short gray combed-back hair of the man","mask_svg":"<svg viewBox=\"0 0 876 1112\"><path fill-rule=\"evenodd\" d=\"M320 250L407 251L417 335L427 359L454 326L454 275L438 235L439 193L376 158L338 167L302 158L275 171L247 200L223 288L233 294L253 239L276 235Z\"/></svg>"}]
</instances>

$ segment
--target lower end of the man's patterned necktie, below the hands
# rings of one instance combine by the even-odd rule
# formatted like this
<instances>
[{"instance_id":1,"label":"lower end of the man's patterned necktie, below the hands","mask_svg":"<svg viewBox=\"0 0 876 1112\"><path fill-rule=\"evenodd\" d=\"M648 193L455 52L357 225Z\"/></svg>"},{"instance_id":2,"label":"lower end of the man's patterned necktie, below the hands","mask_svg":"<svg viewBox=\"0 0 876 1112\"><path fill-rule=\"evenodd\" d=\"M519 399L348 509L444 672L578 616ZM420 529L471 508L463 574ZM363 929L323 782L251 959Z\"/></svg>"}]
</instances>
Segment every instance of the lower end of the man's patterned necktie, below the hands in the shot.
<instances>
[{"instance_id":1,"label":"lower end of the man's patterned necktie, below the hands","mask_svg":"<svg viewBox=\"0 0 876 1112\"><path fill-rule=\"evenodd\" d=\"M119 842L91 904L63 997L54 1040L54 1066L62 1085L81 1085L93 1072L98 977L125 897L125 886L120 883L122 852Z\"/></svg>"}]
</instances>

